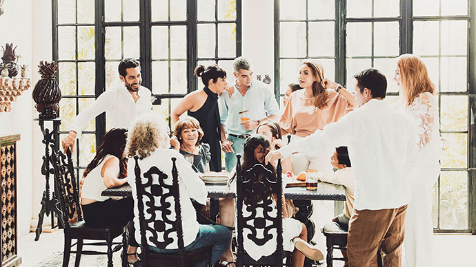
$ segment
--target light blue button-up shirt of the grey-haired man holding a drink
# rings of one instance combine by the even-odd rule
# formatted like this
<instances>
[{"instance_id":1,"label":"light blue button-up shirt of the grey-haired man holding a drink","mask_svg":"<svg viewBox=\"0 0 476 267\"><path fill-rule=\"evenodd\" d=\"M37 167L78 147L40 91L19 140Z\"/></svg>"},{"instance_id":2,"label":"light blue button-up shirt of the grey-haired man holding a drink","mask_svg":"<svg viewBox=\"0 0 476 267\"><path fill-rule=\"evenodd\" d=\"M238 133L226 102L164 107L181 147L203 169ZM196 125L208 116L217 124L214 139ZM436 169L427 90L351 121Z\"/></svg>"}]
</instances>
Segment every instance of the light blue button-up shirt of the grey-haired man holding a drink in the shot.
<instances>
[{"instance_id":1,"label":"light blue button-up shirt of the grey-haired man holding a drink","mask_svg":"<svg viewBox=\"0 0 476 267\"><path fill-rule=\"evenodd\" d=\"M279 115L279 107L275 93L265 83L252 81L246 94L242 96L235 81L235 93L231 98L223 92L218 98L221 125L226 126L228 133L240 135L249 134L252 130L245 130L241 125L239 112L248 110L250 120L262 120L272 115Z\"/></svg>"}]
</instances>

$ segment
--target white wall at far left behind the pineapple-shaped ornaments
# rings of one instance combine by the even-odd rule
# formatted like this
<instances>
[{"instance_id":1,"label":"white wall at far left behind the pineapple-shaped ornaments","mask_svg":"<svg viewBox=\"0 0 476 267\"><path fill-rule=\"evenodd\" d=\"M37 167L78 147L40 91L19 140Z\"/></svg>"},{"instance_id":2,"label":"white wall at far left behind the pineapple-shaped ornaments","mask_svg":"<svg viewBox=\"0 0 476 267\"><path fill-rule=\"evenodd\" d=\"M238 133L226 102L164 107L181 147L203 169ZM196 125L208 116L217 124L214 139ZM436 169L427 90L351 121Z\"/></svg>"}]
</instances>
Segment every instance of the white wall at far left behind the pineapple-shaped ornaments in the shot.
<instances>
[{"instance_id":1,"label":"white wall at far left behind the pineapple-shaped ornaments","mask_svg":"<svg viewBox=\"0 0 476 267\"><path fill-rule=\"evenodd\" d=\"M5 12L0 16L0 45L18 45L19 64L32 66L32 0L5 1ZM3 53L2 53L3 54ZM34 83L32 83L33 85ZM25 235L30 230L32 210L32 90L23 92L12 103L12 111L0 112L0 136L21 134L17 142L17 204L18 232Z\"/></svg>"}]
</instances>

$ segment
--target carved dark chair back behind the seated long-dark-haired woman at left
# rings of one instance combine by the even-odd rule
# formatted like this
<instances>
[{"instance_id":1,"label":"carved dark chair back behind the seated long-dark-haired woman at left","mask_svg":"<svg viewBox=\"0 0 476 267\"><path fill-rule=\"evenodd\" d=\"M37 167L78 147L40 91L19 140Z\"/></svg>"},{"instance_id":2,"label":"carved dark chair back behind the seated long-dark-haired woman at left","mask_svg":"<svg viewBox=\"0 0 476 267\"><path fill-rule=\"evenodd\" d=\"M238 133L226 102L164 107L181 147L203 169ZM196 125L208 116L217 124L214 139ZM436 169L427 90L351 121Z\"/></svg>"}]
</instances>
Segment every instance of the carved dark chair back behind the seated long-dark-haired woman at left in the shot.
<instances>
[{"instance_id":1,"label":"carved dark chair back behind the seated long-dark-haired woman at left","mask_svg":"<svg viewBox=\"0 0 476 267\"><path fill-rule=\"evenodd\" d=\"M50 162L53 168L50 172L54 175L54 186L58 198L57 205L59 205L59 211L61 211L60 219L65 227L69 227L69 221L75 217L76 213L78 220L83 220L79 204L78 181L72 167L70 149L64 155L61 151L55 151L54 145L51 145L51 148Z\"/></svg>"}]
</instances>

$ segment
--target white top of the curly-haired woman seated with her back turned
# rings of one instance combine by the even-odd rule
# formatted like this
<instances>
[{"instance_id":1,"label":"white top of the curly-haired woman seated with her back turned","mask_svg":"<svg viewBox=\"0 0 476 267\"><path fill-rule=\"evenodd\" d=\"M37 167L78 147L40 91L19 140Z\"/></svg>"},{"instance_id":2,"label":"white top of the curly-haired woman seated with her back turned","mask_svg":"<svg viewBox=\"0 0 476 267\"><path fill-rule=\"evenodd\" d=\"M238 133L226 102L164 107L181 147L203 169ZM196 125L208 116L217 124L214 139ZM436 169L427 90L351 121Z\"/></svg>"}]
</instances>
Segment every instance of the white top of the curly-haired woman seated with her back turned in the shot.
<instances>
[{"instance_id":1,"label":"white top of the curly-haired woman seated with her back turned","mask_svg":"<svg viewBox=\"0 0 476 267\"><path fill-rule=\"evenodd\" d=\"M197 237L199 231L199 223L197 222L197 215L195 209L192 206L190 198L193 198L202 205L206 204L206 197L208 195L204 181L202 181L190 164L186 162L184 156L182 156L179 151L175 149L155 149L154 152L150 154L147 158L139 160L139 167L141 168L141 179L142 183L146 183L147 179L143 177L143 174L146 173L150 167L157 167L160 171L165 173L168 177L166 178L166 184L172 184L172 157L177 158L176 165L177 171L179 171L179 192L180 192L180 206L181 206L181 216L182 216L182 229L184 231L184 246L188 246ZM135 226L135 238L136 240L141 240L140 233L140 224L139 224L139 210L137 209L137 191L135 186L135 159L131 158L128 162L128 183L132 187L132 197L134 197L134 226ZM157 175L152 175L152 183L159 184ZM150 187L146 190L150 193ZM167 189L163 188L163 193L168 193ZM146 218L150 218L147 211L147 205L145 204L149 200L149 197L143 195L144 202L144 215ZM167 197L166 200L161 200L170 203L170 214L167 216L170 220L175 221L175 201L173 197ZM155 197L155 204L161 206L159 198ZM156 212L157 219L161 220L160 211ZM170 228L170 225L167 225ZM154 229L155 222L150 222L148 227ZM157 240L163 242L164 231L157 230ZM148 245L155 246L150 242L150 238L153 238L150 233L146 231L148 237ZM174 232L169 236L173 239L173 242L166 246L166 249L179 248L177 244L177 232Z\"/></svg>"}]
</instances>

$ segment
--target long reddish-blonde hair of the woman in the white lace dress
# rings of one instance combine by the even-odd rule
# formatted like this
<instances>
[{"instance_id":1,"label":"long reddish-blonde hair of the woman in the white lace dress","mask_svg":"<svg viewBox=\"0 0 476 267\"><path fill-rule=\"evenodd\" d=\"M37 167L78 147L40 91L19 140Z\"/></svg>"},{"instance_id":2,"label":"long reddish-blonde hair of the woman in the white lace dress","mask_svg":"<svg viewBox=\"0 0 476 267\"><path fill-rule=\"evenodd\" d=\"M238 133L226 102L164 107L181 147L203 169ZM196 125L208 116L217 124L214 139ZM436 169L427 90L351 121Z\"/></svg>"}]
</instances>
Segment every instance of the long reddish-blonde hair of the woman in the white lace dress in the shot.
<instances>
[{"instance_id":1,"label":"long reddish-blonde hair of the woman in the white lace dress","mask_svg":"<svg viewBox=\"0 0 476 267\"><path fill-rule=\"evenodd\" d=\"M407 106L413 103L419 94L424 92L435 94L435 85L428 77L428 70L422 58L413 54L402 54L398 57L397 66Z\"/></svg>"}]
</instances>

